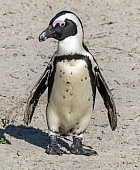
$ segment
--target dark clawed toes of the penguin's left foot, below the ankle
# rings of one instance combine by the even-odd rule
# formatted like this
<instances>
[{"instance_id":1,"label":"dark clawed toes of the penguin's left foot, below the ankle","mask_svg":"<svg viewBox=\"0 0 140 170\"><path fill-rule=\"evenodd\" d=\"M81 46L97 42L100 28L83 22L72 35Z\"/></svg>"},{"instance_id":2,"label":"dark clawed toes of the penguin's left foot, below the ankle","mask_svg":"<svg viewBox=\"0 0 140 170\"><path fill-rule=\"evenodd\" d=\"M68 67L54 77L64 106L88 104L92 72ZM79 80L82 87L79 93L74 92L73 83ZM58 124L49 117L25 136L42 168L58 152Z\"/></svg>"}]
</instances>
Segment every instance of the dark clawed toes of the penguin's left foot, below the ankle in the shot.
<instances>
[{"instance_id":1,"label":"dark clawed toes of the penguin's left foot, below the ankle","mask_svg":"<svg viewBox=\"0 0 140 170\"><path fill-rule=\"evenodd\" d=\"M60 149L60 147L58 145L52 145L52 146L49 146L46 149L46 153L48 155L59 155L59 156L61 156L64 152L63 152L63 150Z\"/></svg>"}]
</instances>

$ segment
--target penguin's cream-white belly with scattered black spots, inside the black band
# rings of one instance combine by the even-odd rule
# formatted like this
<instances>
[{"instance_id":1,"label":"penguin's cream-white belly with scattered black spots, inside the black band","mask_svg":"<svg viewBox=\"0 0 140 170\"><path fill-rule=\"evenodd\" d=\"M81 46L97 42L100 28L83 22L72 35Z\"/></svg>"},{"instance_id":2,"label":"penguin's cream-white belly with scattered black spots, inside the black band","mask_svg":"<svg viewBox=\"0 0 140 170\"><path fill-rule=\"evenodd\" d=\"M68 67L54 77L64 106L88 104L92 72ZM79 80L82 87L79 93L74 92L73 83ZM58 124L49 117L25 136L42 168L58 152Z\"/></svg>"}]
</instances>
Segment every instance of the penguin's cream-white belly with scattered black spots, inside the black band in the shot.
<instances>
[{"instance_id":1,"label":"penguin's cream-white belly with scattered black spots, inside the black band","mask_svg":"<svg viewBox=\"0 0 140 170\"><path fill-rule=\"evenodd\" d=\"M58 62L47 108L49 126L54 129L59 126L64 131L73 128L82 118L89 119L93 102L86 62L82 59Z\"/></svg>"}]
</instances>

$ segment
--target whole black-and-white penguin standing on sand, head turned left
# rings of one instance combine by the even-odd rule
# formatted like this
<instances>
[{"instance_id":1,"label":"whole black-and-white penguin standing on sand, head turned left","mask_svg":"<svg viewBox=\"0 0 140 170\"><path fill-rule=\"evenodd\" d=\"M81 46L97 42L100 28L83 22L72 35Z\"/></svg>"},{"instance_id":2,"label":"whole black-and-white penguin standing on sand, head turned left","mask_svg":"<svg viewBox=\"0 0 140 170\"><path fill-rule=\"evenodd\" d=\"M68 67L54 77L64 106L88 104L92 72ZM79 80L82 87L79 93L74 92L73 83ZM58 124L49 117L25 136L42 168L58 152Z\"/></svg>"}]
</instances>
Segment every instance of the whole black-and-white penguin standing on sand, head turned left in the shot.
<instances>
[{"instance_id":1,"label":"whole black-and-white penguin standing on sand, head turned left","mask_svg":"<svg viewBox=\"0 0 140 170\"><path fill-rule=\"evenodd\" d=\"M83 147L83 134L91 120L96 89L108 110L111 129L116 129L117 114L112 93L94 56L84 44L83 25L77 15L71 11L56 14L39 35L39 41L49 38L58 41L57 50L30 93L24 114L25 124L31 122L40 96L48 89L46 119L49 145L46 153L62 155L64 151L58 138L72 134L71 154L97 155L95 150Z\"/></svg>"}]
</instances>

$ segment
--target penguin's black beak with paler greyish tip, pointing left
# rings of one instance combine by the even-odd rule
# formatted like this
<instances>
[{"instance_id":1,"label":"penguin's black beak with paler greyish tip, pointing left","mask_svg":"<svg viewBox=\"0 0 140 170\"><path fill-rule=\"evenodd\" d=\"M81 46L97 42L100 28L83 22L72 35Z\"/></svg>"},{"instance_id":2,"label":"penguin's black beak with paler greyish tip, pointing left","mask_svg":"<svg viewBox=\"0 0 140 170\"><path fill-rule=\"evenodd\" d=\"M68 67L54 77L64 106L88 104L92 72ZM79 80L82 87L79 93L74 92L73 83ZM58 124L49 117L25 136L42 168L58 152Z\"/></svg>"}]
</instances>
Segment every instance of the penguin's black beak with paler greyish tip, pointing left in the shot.
<instances>
[{"instance_id":1,"label":"penguin's black beak with paler greyish tip, pointing left","mask_svg":"<svg viewBox=\"0 0 140 170\"><path fill-rule=\"evenodd\" d=\"M53 38L55 34L55 28L49 25L49 27L39 35L39 41L46 41L48 38Z\"/></svg>"}]
</instances>

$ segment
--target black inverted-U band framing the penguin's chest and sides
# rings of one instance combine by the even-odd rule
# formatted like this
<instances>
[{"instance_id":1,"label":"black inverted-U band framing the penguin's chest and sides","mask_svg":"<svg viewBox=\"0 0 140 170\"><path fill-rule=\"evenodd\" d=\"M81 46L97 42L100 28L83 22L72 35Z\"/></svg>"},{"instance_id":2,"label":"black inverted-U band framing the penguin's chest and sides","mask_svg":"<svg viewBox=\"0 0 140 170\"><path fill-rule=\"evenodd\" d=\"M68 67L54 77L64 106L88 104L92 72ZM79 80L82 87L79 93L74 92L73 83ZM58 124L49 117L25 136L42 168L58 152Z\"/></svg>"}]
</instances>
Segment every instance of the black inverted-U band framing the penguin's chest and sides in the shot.
<instances>
[{"instance_id":1,"label":"black inverted-U band framing the penguin's chest and sides","mask_svg":"<svg viewBox=\"0 0 140 170\"><path fill-rule=\"evenodd\" d=\"M92 95L93 95L93 101L95 101L95 95L96 95L96 79L95 79L95 75L92 71L92 64L90 59L88 58L88 56L83 56L83 55L79 55L79 54L75 54L75 55L65 55L65 56L56 56L54 58L54 67L52 70L52 73L49 77L49 81L48 81L48 104L49 104L49 100L50 100L50 96L51 96L51 92L52 92L52 87L53 87L53 83L54 83L54 78L55 78L55 73L56 73L56 68L57 68L57 64L59 62L62 62L64 60L67 61L71 61L71 60L84 60L87 64L87 69L89 71L89 77L90 77L90 82L91 82L91 86L92 86ZM67 84L70 84L69 81L66 82ZM71 94L72 95L72 94ZM64 96L65 97L65 96ZM93 102L93 107L94 107L94 102Z\"/></svg>"}]
</instances>

